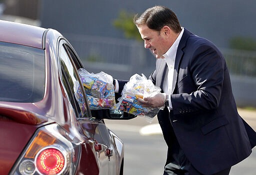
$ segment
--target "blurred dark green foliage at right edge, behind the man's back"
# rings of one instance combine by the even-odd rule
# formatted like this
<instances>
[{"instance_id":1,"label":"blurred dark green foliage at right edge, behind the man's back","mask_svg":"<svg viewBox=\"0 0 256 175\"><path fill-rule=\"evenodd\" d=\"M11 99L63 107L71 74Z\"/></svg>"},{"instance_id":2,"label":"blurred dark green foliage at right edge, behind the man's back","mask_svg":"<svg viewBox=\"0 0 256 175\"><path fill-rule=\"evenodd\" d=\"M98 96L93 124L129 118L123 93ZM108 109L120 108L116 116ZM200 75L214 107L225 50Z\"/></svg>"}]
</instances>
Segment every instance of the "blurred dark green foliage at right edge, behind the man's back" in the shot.
<instances>
[{"instance_id":1,"label":"blurred dark green foliage at right edge, behind the man's back","mask_svg":"<svg viewBox=\"0 0 256 175\"><path fill-rule=\"evenodd\" d=\"M256 50L256 41L250 37L236 36L229 40L229 46L233 49Z\"/></svg>"}]
</instances>

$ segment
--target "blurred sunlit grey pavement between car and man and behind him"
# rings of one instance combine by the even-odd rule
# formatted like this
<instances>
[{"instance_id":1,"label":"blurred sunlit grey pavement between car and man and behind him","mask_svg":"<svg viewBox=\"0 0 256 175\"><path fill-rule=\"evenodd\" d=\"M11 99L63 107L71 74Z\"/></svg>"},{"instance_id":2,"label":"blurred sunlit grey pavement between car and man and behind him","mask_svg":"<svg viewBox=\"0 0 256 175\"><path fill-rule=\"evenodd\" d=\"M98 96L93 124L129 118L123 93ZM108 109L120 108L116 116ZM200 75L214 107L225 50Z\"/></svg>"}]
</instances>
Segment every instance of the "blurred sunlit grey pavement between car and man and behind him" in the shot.
<instances>
[{"instance_id":1,"label":"blurred sunlit grey pavement between car and man and behind him","mask_svg":"<svg viewBox=\"0 0 256 175\"><path fill-rule=\"evenodd\" d=\"M238 108L238 113L247 123L256 130L256 110L246 110ZM166 154L166 145L162 138L162 132L157 118L136 117L130 120L105 120L107 127L113 130L121 139L125 146L125 167L126 174L162 174L162 166ZM159 144L160 142L160 144ZM154 145L146 147L146 145ZM157 145L159 147L157 147ZM134 153L134 150L139 150ZM151 152L151 154L148 154ZM154 154L154 152L156 152ZM161 156L158 158L157 156ZM137 161L147 157L146 162L137 164ZM124 158L125 159L125 158ZM136 160L136 161L134 161ZM160 162L159 162L160 161ZM141 161L142 162L142 161ZM158 164L156 164L158 163ZM156 170L156 166L158 169ZM154 167L150 169L150 167ZM252 149L249 157L240 163L232 166L230 175L252 175L256 169L256 148ZM154 170L154 172L152 172Z\"/></svg>"}]
</instances>

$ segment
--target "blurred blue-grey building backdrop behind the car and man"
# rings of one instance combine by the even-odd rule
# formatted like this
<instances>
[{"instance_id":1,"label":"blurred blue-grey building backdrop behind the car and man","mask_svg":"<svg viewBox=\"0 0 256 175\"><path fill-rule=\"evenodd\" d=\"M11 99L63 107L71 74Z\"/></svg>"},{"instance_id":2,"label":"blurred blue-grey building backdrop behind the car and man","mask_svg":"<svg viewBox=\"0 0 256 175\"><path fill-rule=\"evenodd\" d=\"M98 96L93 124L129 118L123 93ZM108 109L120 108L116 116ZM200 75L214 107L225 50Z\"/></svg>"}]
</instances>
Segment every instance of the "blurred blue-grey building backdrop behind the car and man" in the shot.
<instances>
[{"instance_id":1,"label":"blurred blue-grey building backdrop behind the car and man","mask_svg":"<svg viewBox=\"0 0 256 175\"><path fill-rule=\"evenodd\" d=\"M129 17L158 4L171 8L183 27L222 50L237 105L255 107L255 0L0 0L0 18L57 29L88 71L128 79L134 73L148 76L155 58L142 40L127 38L114 23L126 24L122 12Z\"/></svg>"}]
</instances>

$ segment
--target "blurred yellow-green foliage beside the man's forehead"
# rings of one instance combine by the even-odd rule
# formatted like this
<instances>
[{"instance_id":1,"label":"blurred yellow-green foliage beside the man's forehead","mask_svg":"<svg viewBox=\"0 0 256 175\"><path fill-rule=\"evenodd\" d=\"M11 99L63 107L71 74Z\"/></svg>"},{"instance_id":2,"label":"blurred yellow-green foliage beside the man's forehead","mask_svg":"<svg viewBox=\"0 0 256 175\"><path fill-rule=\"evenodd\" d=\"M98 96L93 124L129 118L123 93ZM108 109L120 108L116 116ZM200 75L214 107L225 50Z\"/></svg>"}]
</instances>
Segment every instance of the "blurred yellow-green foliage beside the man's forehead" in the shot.
<instances>
[{"instance_id":1,"label":"blurred yellow-green foliage beside the man's forehead","mask_svg":"<svg viewBox=\"0 0 256 175\"><path fill-rule=\"evenodd\" d=\"M119 16L113 21L113 26L123 31L124 36L128 39L141 40L136 25L133 23L134 13L121 10Z\"/></svg>"}]
</instances>

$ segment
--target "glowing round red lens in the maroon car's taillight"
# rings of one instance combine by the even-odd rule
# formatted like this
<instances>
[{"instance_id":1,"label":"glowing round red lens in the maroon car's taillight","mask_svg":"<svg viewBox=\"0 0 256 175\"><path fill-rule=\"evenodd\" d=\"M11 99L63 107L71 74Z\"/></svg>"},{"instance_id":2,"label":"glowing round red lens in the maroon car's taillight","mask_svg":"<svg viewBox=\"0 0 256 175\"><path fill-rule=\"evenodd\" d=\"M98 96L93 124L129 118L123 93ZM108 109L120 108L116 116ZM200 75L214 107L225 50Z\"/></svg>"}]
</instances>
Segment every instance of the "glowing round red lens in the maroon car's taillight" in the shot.
<instances>
[{"instance_id":1,"label":"glowing round red lens in the maroon car's taillight","mask_svg":"<svg viewBox=\"0 0 256 175\"><path fill-rule=\"evenodd\" d=\"M65 159L55 148L42 150L36 158L36 167L42 174L57 174L64 168Z\"/></svg>"}]
</instances>

